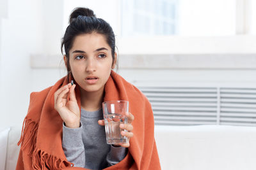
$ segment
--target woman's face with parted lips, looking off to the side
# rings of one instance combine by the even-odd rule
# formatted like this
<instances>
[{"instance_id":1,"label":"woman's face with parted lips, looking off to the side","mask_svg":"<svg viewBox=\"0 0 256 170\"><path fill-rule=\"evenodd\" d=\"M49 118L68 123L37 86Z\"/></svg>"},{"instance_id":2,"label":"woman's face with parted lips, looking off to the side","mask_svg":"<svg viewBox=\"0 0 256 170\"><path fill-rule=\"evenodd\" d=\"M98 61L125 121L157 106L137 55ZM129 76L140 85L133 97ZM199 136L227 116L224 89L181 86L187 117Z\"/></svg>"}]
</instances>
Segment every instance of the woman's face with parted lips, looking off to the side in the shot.
<instances>
[{"instance_id":1,"label":"woman's face with parted lips, looking off to the side","mask_svg":"<svg viewBox=\"0 0 256 170\"><path fill-rule=\"evenodd\" d=\"M103 92L111 68L115 67L106 38L96 32L76 36L69 56L72 75L81 90Z\"/></svg>"}]
</instances>

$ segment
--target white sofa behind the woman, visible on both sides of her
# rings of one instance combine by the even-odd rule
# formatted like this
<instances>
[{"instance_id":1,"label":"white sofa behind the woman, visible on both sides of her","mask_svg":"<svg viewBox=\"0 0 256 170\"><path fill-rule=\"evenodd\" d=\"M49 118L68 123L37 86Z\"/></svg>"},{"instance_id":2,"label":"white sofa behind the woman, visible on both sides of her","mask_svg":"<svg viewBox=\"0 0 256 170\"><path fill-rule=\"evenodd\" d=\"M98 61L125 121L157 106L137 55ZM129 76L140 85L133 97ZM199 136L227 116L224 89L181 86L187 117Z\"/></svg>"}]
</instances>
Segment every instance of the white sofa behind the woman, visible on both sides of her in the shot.
<instances>
[{"instance_id":1,"label":"white sofa behind the woman, visible on both sides of her","mask_svg":"<svg viewBox=\"0 0 256 170\"><path fill-rule=\"evenodd\" d=\"M0 129L0 170L15 169L20 131ZM156 126L155 137L163 170L256 169L256 127Z\"/></svg>"}]
</instances>

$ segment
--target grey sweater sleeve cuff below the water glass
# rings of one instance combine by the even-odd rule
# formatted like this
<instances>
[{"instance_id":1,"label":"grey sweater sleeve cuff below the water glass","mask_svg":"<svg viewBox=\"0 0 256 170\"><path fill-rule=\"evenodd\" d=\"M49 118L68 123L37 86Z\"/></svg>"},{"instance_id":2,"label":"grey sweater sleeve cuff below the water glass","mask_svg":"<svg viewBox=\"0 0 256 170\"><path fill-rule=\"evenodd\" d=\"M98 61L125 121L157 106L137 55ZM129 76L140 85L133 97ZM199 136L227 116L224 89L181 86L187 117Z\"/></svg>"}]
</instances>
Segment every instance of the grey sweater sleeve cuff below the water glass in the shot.
<instances>
[{"instance_id":1,"label":"grey sweater sleeve cuff below the water glass","mask_svg":"<svg viewBox=\"0 0 256 170\"><path fill-rule=\"evenodd\" d=\"M122 146L113 146L111 145L110 151L107 155L108 166L113 166L124 159L127 154L127 148Z\"/></svg>"}]
</instances>

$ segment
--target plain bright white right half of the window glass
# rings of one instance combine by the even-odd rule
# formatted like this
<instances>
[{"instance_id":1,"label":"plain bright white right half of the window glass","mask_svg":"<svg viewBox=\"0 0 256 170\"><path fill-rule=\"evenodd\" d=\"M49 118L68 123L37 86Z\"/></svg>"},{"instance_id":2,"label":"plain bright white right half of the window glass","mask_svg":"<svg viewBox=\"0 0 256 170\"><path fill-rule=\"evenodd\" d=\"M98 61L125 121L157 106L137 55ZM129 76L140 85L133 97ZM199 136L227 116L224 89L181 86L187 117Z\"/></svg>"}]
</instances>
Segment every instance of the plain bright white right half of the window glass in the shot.
<instances>
[{"instance_id":1,"label":"plain bright white right half of the window glass","mask_svg":"<svg viewBox=\"0 0 256 170\"><path fill-rule=\"evenodd\" d=\"M179 35L228 36L236 34L236 1L179 0Z\"/></svg>"}]
</instances>

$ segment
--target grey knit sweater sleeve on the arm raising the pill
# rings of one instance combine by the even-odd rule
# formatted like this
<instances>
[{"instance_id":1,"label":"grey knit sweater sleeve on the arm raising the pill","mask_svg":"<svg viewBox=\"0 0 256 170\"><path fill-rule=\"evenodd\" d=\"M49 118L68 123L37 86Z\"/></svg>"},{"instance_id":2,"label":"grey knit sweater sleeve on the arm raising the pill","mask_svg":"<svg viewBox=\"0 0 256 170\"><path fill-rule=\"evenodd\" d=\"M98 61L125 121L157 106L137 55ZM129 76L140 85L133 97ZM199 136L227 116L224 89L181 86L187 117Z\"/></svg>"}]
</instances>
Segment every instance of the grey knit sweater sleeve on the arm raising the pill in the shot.
<instances>
[{"instance_id":1,"label":"grey knit sweater sleeve on the arm raising the pill","mask_svg":"<svg viewBox=\"0 0 256 170\"><path fill-rule=\"evenodd\" d=\"M71 129L63 123L62 148L69 162L75 167L85 166L84 145L82 140L83 127Z\"/></svg>"}]
</instances>

